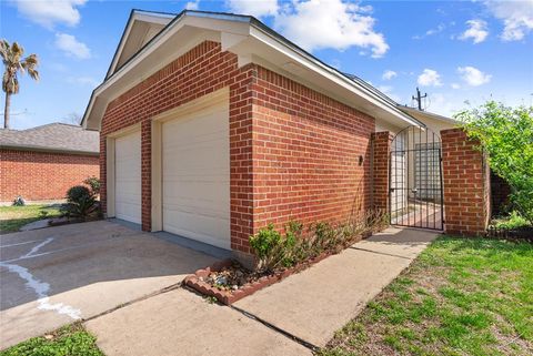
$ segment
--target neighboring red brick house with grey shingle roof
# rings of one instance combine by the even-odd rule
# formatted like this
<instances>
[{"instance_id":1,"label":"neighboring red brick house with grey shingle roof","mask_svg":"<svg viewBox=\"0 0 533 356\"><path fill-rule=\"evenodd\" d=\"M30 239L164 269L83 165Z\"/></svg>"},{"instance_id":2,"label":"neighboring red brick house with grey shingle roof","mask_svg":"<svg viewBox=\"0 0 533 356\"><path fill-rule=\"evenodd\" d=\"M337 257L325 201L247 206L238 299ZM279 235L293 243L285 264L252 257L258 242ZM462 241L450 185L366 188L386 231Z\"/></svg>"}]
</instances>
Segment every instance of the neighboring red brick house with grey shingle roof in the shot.
<instances>
[{"instance_id":1,"label":"neighboring red brick house with grey shingle roof","mask_svg":"<svg viewBox=\"0 0 533 356\"><path fill-rule=\"evenodd\" d=\"M98 132L64 123L0 130L0 202L64 199L100 175L99 144Z\"/></svg>"}]
</instances>

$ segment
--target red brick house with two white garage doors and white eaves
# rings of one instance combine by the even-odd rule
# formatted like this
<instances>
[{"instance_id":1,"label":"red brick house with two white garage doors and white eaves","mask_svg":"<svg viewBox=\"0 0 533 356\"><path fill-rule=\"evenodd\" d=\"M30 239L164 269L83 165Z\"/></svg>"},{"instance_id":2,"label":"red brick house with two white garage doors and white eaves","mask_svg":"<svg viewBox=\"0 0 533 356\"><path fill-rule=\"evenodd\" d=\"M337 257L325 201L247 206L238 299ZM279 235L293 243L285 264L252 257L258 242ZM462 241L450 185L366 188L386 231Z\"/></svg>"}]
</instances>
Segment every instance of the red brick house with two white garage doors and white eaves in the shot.
<instances>
[{"instance_id":1,"label":"red brick house with two white garage doors and white eaves","mask_svg":"<svg viewBox=\"0 0 533 356\"><path fill-rule=\"evenodd\" d=\"M108 217L247 258L249 236L270 222L340 222L390 210L394 133L431 132L426 115L324 64L252 17L134 10L82 124L100 132ZM477 162L479 153L463 144L464 133L452 122L433 119L450 129L441 132L442 156L450 161L439 189L465 174L463 189L475 194L462 202L453 189L433 212L443 215L445 206L447 231L476 233L485 213L485 187L476 181L483 167L453 170ZM472 162L455 156L456 146L472 149ZM459 203L477 207L467 217Z\"/></svg>"}]
</instances>

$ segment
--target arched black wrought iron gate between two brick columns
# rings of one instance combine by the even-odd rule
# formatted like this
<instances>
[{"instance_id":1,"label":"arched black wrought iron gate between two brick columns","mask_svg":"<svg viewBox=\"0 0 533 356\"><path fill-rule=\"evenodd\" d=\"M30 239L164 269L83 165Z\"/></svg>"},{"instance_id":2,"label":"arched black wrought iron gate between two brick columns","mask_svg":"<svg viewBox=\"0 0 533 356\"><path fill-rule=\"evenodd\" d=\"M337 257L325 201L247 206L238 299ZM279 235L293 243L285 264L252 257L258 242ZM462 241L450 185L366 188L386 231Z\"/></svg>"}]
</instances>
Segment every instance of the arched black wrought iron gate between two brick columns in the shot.
<instances>
[{"instance_id":1,"label":"arched black wrought iron gate between two brick columns","mask_svg":"<svg viewBox=\"0 0 533 356\"><path fill-rule=\"evenodd\" d=\"M409 126L392 141L389 170L392 225L443 230L441 139Z\"/></svg>"}]
</instances>

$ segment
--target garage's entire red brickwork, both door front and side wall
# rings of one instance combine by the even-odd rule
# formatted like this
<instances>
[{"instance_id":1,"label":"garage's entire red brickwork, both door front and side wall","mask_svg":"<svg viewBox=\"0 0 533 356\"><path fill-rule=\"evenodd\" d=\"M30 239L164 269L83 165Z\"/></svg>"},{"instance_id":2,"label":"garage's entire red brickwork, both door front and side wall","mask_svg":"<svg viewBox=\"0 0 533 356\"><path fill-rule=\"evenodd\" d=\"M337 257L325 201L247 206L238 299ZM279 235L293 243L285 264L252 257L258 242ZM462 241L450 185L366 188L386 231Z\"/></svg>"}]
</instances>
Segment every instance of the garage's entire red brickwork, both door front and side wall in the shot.
<instances>
[{"instance_id":1,"label":"garage's entire red brickwork, both door front and side wall","mask_svg":"<svg viewBox=\"0 0 533 356\"><path fill-rule=\"evenodd\" d=\"M100 136L101 200L107 201L105 140L141 124L142 228L151 228L151 118L230 89L231 247L269 222L348 218L370 206L374 120L203 42L112 101ZM362 157L360 161L360 156Z\"/></svg>"}]
</instances>

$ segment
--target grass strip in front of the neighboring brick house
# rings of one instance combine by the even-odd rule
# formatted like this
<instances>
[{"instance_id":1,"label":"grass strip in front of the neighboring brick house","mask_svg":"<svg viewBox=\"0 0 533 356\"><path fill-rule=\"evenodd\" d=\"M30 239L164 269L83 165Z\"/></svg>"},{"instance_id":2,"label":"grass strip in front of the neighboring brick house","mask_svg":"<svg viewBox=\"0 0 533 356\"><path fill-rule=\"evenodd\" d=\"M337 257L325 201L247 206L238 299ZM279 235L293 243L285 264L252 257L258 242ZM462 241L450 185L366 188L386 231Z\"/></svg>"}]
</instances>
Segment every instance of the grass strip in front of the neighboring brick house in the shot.
<instances>
[{"instance_id":1,"label":"grass strip in front of the neighboring brick house","mask_svg":"<svg viewBox=\"0 0 533 356\"><path fill-rule=\"evenodd\" d=\"M12 233L31 222L58 215L59 208L49 205L0 206L0 234Z\"/></svg>"}]
</instances>

